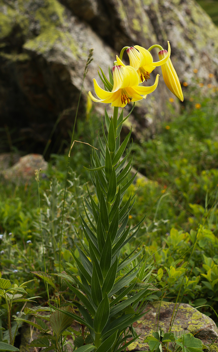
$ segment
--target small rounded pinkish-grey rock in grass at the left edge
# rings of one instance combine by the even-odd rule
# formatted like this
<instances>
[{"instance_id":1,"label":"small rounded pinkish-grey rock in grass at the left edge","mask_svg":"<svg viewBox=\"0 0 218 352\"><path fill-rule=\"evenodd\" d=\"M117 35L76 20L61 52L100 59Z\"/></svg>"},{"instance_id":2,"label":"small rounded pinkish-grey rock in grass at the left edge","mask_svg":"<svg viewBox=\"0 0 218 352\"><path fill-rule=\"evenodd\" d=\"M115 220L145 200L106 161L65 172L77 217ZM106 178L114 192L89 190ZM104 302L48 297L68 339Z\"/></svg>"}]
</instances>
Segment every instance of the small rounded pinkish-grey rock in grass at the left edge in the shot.
<instances>
[{"instance_id":1,"label":"small rounded pinkish-grey rock in grass at the left edge","mask_svg":"<svg viewBox=\"0 0 218 352\"><path fill-rule=\"evenodd\" d=\"M35 170L46 171L48 163L44 160L40 154L27 154L19 159L10 168L2 171L2 175L6 180L12 182L21 183L33 181L35 177Z\"/></svg>"}]
</instances>

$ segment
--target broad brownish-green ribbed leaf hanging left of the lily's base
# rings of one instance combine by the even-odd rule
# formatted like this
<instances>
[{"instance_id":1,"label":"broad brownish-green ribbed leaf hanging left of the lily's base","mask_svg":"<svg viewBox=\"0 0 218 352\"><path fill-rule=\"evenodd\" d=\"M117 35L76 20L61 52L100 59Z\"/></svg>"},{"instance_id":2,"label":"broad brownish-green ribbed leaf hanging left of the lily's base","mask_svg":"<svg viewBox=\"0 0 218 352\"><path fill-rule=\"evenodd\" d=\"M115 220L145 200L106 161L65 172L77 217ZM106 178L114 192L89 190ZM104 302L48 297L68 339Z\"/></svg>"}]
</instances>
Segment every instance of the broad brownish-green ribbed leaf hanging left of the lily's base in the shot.
<instances>
[{"instance_id":1,"label":"broad brownish-green ribbed leaf hanging left of the lily's base","mask_svg":"<svg viewBox=\"0 0 218 352\"><path fill-rule=\"evenodd\" d=\"M60 335L74 322L74 319L64 314L63 311L73 313L73 309L67 306L60 307L60 310L56 310L56 312L50 315L51 328L57 335L57 339L59 339Z\"/></svg>"}]
</instances>

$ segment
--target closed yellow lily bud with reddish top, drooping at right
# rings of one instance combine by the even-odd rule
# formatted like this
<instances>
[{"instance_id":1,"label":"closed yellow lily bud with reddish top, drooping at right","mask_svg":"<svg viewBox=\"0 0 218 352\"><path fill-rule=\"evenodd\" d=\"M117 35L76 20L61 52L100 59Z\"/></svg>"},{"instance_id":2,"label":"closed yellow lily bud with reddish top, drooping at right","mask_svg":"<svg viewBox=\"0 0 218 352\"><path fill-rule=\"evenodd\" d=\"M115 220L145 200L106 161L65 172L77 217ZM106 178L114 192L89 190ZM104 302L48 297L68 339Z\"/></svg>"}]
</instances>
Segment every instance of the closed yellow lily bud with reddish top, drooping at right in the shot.
<instances>
[{"instance_id":1,"label":"closed yellow lily bud with reddish top, drooping at right","mask_svg":"<svg viewBox=\"0 0 218 352\"><path fill-rule=\"evenodd\" d=\"M159 56L159 59L166 58L167 50L159 51L158 56ZM171 90L171 92L177 98L183 101L181 84L179 82L179 78L177 76L177 73L170 59L168 59L167 62L161 66L161 70L162 70L163 79L164 79L164 82L166 83L167 88L169 88L169 90Z\"/></svg>"}]
</instances>

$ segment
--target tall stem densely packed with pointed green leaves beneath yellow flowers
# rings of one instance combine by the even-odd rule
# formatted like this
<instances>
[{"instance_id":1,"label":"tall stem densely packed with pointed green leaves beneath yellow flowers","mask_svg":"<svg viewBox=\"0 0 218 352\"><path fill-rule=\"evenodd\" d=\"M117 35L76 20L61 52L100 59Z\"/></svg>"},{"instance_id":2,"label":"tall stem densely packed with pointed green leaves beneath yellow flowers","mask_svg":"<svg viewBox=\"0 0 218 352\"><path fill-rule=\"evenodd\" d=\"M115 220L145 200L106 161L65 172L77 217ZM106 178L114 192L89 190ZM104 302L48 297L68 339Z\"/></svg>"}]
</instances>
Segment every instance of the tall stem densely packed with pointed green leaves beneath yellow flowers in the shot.
<instances>
[{"instance_id":1,"label":"tall stem densely packed with pointed green leaves beneath yellow flowers","mask_svg":"<svg viewBox=\"0 0 218 352\"><path fill-rule=\"evenodd\" d=\"M132 228L127 226L135 199L131 195L124 202L123 196L136 174L127 180L132 158L126 163L130 150L125 152L125 149L131 131L120 145L123 121L123 110L118 118L118 108L114 108L111 119L105 110L107 132L104 132L102 121L104 140L98 136L100 152L93 151L92 169L86 168L91 172L96 195L92 196L87 187L85 211L88 224L81 216L81 226L88 246L83 243L83 250L77 246L80 259L72 251L79 276L72 276L69 272L57 274L66 280L77 297L71 306L80 315L67 310L62 313L86 326L93 341L93 345L79 347L78 352L80 348L88 351L89 347L95 348L96 352L122 351L135 341L138 335L132 324L145 314L142 307L138 308L138 303L155 290L148 283L150 268L145 270L145 263L137 262L143 250L133 254L136 248L127 257L120 257L120 251L136 236L144 220Z\"/></svg>"}]
</instances>

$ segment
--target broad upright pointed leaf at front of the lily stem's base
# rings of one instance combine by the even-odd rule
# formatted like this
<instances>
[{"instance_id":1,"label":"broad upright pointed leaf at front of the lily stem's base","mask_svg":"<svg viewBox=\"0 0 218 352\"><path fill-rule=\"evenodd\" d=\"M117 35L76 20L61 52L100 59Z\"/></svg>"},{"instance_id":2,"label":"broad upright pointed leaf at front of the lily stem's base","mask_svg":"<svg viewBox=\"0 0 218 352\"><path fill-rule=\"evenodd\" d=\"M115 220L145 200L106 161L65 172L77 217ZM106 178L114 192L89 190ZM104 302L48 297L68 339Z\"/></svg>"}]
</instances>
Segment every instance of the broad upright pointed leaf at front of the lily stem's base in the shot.
<instances>
[{"instance_id":1,"label":"broad upright pointed leaf at front of the lily stem's base","mask_svg":"<svg viewBox=\"0 0 218 352\"><path fill-rule=\"evenodd\" d=\"M109 300L107 295L103 298L98 306L94 317L94 330L96 333L101 333L104 329L109 317Z\"/></svg>"}]
</instances>

